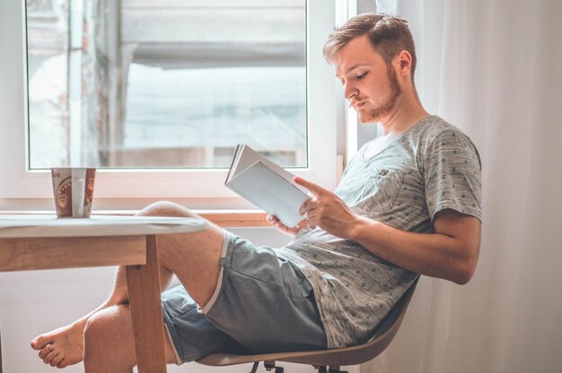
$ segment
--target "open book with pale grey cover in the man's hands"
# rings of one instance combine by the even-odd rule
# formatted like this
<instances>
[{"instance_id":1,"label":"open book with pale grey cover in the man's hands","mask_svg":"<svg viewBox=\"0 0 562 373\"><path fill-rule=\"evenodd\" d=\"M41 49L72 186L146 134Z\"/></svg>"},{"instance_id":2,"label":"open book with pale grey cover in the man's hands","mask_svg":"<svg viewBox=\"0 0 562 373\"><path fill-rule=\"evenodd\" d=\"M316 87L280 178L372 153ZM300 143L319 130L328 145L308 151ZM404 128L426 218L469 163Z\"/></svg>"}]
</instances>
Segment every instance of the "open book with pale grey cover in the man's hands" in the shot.
<instances>
[{"instance_id":1,"label":"open book with pale grey cover in the man's hands","mask_svg":"<svg viewBox=\"0 0 562 373\"><path fill-rule=\"evenodd\" d=\"M224 185L288 227L304 216L299 208L311 197L293 181L294 175L264 158L248 145L238 145Z\"/></svg>"}]
</instances>

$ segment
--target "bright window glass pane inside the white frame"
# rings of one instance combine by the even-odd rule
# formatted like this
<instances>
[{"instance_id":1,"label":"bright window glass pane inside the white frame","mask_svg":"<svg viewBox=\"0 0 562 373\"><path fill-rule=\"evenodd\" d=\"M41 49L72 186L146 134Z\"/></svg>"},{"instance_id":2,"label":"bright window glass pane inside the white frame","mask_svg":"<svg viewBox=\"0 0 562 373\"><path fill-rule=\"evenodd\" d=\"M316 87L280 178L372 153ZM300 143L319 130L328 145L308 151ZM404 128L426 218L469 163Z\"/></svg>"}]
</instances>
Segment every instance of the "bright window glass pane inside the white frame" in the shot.
<instances>
[{"instance_id":1,"label":"bright window glass pane inside the white frame","mask_svg":"<svg viewBox=\"0 0 562 373\"><path fill-rule=\"evenodd\" d=\"M306 167L305 3L27 0L30 168Z\"/></svg>"}]
</instances>

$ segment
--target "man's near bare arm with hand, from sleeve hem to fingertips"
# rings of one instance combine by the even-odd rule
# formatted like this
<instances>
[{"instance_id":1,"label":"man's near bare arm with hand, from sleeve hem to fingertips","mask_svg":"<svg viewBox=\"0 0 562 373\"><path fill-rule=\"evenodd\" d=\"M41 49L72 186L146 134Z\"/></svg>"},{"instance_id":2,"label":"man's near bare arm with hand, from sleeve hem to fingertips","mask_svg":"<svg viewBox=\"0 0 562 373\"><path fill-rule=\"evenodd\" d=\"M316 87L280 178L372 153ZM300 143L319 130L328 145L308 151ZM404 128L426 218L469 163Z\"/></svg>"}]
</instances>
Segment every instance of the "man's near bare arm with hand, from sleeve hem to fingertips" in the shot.
<instances>
[{"instance_id":1,"label":"man's near bare arm with hand, from sleeve hem to fingertips","mask_svg":"<svg viewBox=\"0 0 562 373\"><path fill-rule=\"evenodd\" d=\"M315 196L301 207L308 224L343 239L353 239L376 256L409 271L460 284L470 281L478 262L480 221L443 210L435 215L435 233L399 230L353 213L337 195L295 178Z\"/></svg>"}]
</instances>

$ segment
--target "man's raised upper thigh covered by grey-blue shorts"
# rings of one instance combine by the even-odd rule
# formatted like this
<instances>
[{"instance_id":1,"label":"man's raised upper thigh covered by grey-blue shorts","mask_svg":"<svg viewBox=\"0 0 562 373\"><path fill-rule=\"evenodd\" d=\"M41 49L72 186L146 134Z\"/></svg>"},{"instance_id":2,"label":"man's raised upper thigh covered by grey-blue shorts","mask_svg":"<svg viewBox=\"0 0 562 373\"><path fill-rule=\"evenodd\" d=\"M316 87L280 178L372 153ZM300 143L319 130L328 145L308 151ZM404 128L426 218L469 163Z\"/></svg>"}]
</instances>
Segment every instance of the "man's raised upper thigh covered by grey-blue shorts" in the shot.
<instances>
[{"instance_id":1,"label":"man's raised upper thigh covered by grey-blue shorts","mask_svg":"<svg viewBox=\"0 0 562 373\"><path fill-rule=\"evenodd\" d=\"M252 352L326 348L310 282L270 247L226 235L220 287L206 317Z\"/></svg>"}]
</instances>

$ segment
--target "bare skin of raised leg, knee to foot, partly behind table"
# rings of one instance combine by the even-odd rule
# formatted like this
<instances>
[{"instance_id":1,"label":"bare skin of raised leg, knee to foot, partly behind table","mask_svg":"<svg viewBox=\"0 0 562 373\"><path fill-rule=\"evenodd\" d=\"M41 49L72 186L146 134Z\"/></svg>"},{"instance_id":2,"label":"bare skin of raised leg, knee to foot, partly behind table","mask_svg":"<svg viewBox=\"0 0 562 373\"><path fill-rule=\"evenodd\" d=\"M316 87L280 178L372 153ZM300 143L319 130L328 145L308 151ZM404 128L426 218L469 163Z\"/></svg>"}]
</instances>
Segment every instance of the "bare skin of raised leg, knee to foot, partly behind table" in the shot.
<instances>
[{"instance_id":1,"label":"bare skin of raised leg, knee to foot, partly behind table","mask_svg":"<svg viewBox=\"0 0 562 373\"><path fill-rule=\"evenodd\" d=\"M139 215L195 217L188 209L178 204L156 203L146 207ZM163 235L158 237L160 278L162 290L171 282L177 271L180 282L199 305L203 306L215 291L220 268L218 265L223 245L223 230L209 223L209 228L200 232ZM39 350L40 359L53 367L64 368L83 360L83 331L88 319L104 308L127 304L127 279L125 267L119 267L110 298L99 308L47 334L41 334L31 342Z\"/></svg>"}]
</instances>

